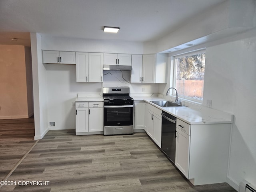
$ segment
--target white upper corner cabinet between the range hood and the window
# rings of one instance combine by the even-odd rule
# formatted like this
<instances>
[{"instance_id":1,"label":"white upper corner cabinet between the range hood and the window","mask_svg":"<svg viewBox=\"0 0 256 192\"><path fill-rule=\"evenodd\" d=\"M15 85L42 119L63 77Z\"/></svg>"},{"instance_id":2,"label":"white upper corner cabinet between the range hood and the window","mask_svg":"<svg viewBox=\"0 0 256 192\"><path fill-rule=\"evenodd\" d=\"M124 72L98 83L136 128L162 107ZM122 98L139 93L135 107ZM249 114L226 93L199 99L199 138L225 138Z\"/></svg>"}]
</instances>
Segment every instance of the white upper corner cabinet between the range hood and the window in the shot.
<instances>
[{"instance_id":1,"label":"white upper corner cabinet between the range hood and the window","mask_svg":"<svg viewBox=\"0 0 256 192\"><path fill-rule=\"evenodd\" d=\"M132 55L131 83L167 83L168 54Z\"/></svg>"}]
</instances>

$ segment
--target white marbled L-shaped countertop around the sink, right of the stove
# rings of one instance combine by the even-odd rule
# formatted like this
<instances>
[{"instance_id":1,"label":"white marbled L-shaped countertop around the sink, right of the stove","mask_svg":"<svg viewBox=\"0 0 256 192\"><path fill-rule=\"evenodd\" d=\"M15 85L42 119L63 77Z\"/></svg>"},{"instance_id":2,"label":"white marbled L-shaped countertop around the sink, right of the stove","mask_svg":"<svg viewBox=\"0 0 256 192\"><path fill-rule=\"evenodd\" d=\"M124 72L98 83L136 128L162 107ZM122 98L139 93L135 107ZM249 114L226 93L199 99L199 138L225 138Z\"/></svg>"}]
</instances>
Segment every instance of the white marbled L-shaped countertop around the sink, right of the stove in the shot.
<instances>
[{"instance_id":1,"label":"white marbled L-shaped countertop around the sink, right of the stove","mask_svg":"<svg viewBox=\"0 0 256 192\"><path fill-rule=\"evenodd\" d=\"M134 101L148 102L157 108L168 112L169 114L183 120L188 124L230 124L233 122L233 115L226 112L214 110L202 106L200 110L194 110L192 108L183 107L160 107L152 102L151 100L164 100L158 97L132 97Z\"/></svg>"}]
</instances>

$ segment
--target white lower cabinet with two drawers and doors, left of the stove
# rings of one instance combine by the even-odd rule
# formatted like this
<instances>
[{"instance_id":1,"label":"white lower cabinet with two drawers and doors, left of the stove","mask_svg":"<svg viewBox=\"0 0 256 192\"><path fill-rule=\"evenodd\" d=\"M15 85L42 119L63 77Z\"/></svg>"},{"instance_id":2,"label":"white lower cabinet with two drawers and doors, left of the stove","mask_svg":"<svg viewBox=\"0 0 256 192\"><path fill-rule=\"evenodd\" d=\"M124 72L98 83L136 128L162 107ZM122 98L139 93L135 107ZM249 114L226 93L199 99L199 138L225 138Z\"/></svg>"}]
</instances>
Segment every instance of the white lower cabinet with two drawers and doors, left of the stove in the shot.
<instances>
[{"instance_id":1,"label":"white lower cabinet with two drawers and doors, left of the stove","mask_svg":"<svg viewBox=\"0 0 256 192\"><path fill-rule=\"evenodd\" d=\"M103 102L76 102L76 135L103 132Z\"/></svg>"}]
</instances>

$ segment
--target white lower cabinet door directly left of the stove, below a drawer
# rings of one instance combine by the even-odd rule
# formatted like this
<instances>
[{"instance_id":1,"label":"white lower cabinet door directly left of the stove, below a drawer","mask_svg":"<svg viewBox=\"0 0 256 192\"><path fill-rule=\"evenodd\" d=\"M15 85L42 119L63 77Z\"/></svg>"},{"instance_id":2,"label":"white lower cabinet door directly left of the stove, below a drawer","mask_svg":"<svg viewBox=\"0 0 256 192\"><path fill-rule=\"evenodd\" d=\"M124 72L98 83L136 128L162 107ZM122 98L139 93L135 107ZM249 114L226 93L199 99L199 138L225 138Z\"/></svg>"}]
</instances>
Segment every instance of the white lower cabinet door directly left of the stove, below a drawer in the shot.
<instances>
[{"instance_id":1,"label":"white lower cabinet door directly left of the stove, below a drawer","mask_svg":"<svg viewBox=\"0 0 256 192\"><path fill-rule=\"evenodd\" d=\"M89 108L89 132L103 131L103 108Z\"/></svg>"}]
</instances>

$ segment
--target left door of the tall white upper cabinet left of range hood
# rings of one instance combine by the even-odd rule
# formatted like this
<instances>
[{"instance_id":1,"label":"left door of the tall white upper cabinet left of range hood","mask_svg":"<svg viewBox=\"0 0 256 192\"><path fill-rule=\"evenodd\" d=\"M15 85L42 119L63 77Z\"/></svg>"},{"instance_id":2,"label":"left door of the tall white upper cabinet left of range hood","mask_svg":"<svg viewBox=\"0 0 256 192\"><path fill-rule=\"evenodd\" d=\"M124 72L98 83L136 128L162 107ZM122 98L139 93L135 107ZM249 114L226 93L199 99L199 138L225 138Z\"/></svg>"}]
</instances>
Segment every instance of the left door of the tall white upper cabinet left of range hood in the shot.
<instances>
[{"instance_id":1,"label":"left door of the tall white upper cabinet left of range hood","mask_svg":"<svg viewBox=\"0 0 256 192\"><path fill-rule=\"evenodd\" d=\"M88 82L88 53L76 52L76 82Z\"/></svg>"}]
</instances>

